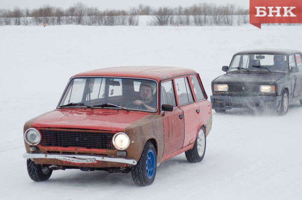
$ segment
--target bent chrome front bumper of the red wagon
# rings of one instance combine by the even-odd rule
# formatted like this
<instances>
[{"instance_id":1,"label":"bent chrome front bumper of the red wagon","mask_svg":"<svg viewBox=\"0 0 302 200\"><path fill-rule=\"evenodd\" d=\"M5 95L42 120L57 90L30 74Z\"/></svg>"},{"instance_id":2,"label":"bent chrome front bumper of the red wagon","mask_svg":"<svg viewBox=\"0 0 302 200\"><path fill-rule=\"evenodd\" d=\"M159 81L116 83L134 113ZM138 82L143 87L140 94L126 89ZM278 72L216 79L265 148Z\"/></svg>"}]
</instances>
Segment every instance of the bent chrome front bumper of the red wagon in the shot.
<instances>
[{"instance_id":1,"label":"bent chrome front bumper of the red wagon","mask_svg":"<svg viewBox=\"0 0 302 200\"><path fill-rule=\"evenodd\" d=\"M45 154L45 153L24 153L24 158L35 159L35 158L47 158L47 159L57 159L73 163L93 163L97 161L105 162L118 162L125 164L136 165L137 161L134 159L127 158L115 158L115 157L99 157L91 155L69 155L69 154Z\"/></svg>"}]
</instances>

